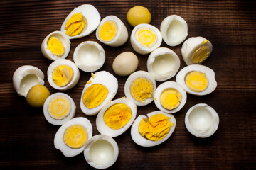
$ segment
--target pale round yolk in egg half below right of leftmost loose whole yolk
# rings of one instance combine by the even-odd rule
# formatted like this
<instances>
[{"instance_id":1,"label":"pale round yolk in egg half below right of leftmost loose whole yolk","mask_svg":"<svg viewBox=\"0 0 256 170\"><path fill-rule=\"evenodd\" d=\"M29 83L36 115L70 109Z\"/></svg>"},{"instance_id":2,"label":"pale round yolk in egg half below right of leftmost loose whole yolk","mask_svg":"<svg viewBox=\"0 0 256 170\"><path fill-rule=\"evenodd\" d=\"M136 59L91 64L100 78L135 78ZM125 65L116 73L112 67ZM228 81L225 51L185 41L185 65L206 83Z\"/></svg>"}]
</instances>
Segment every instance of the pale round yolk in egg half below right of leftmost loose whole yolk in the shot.
<instances>
[{"instance_id":1,"label":"pale round yolk in egg half below right of leftmost loose whole yolk","mask_svg":"<svg viewBox=\"0 0 256 170\"><path fill-rule=\"evenodd\" d=\"M71 103L65 96L55 96L48 103L50 117L61 120L67 117L71 111Z\"/></svg>"}]
</instances>

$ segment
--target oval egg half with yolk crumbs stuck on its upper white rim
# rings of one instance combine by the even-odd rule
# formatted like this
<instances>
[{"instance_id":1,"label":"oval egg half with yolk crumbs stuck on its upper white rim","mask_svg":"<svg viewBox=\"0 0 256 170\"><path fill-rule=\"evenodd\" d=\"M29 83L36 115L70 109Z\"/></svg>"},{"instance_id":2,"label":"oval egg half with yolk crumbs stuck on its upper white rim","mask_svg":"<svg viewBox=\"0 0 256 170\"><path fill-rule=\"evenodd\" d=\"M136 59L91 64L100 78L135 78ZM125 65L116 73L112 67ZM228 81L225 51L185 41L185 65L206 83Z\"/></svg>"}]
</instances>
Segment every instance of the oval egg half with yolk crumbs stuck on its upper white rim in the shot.
<instances>
[{"instance_id":1,"label":"oval egg half with yolk crumbs stuck on its upper white rim","mask_svg":"<svg viewBox=\"0 0 256 170\"><path fill-rule=\"evenodd\" d=\"M82 90L80 108L85 115L95 115L117 94L118 81L111 73L96 72Z\"/></svg>"}]
</instances>

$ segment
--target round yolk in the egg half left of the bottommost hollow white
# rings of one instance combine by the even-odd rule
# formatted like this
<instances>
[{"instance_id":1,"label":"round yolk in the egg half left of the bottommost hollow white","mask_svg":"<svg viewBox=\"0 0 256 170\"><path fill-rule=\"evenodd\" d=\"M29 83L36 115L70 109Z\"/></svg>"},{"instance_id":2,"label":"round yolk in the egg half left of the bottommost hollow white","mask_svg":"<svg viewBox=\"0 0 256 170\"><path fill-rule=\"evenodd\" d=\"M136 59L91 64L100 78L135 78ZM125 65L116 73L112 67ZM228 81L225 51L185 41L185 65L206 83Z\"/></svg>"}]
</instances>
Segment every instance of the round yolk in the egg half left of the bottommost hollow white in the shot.
<instances>
[{"instance_id":1,"label":"round yolk in the egg half left of the bottommost hollow white","mask_svg":"<svg viewBox=\"0 0 256 170\"><path fill-rule=\"evenodd\" d=\"M63 141L65 145L73 149L78 149L86 144L88 140L88 133L82 125L70 125L66 128Z\"/></svg>"}]
</instances>

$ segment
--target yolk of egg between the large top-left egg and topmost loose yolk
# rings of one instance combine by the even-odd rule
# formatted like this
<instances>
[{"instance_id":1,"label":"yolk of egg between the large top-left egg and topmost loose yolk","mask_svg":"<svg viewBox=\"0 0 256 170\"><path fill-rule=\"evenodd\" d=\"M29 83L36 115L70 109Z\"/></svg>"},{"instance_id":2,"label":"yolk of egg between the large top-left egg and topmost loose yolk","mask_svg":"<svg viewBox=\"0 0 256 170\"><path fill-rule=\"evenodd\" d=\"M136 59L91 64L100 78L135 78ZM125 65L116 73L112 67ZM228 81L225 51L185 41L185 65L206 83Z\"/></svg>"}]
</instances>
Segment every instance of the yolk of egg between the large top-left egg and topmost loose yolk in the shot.
<instances>
[{"instance_id":1,"label":"yolk of egg between the large top-left egg and topmost loose yolk","mask_svg":"<svg viewBox=\"0 0 256 170\"><path fill-rule=\"evenodd\" d=\"M111 41L117 35L117 23L106 21L99 30L99 37L102 41Z\"/></svg>"}]
</instances>

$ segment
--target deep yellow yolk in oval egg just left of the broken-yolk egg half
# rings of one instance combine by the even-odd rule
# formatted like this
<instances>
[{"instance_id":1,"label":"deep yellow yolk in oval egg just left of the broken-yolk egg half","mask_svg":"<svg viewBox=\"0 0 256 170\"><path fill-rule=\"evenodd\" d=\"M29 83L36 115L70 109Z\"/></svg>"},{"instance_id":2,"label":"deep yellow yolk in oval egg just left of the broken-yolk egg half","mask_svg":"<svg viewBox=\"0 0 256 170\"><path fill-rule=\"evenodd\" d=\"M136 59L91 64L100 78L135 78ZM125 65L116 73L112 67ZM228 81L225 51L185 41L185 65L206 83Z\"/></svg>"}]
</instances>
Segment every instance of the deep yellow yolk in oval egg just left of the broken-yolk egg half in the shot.
<instances>
[{"instance_id":1,"label":"deep yellow yolk in oval egg just left of the broken-yolk egg half","mask_svg":"<svg viewBox=\"0 0 256 170\"><path fill-rule=\"evenodd\" d=\"M132 110L124 103L117 103L107 108L103 120L113 130L120 129L132 118Z\"/></svg>"}]
</instances>

